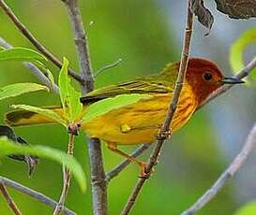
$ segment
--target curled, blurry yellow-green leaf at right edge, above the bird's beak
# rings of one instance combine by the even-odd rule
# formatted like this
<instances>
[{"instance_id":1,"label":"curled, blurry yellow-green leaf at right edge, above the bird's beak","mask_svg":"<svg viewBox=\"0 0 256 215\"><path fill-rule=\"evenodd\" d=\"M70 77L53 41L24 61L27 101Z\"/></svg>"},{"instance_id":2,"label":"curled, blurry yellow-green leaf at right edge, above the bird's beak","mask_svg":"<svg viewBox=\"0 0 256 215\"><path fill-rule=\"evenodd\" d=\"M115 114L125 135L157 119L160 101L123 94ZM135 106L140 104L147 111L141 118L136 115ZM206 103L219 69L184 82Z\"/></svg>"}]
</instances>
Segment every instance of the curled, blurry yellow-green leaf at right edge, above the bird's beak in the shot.
<instances>
[{"instance_id":1,"label":"curled, blurry yellow-green leaf at right edge, above the bird's beak","mask_svg":"<svg viewBox=\"0 0 256 215\"><path fill-rule=\"evenodd\" d=\"M234 74L245 67L244 51L253 43L256 43L256 28L249 29L233 43L230 50L230 63ZM251 74L256 80L256 69Z\"/></svg>"}]
</instances>

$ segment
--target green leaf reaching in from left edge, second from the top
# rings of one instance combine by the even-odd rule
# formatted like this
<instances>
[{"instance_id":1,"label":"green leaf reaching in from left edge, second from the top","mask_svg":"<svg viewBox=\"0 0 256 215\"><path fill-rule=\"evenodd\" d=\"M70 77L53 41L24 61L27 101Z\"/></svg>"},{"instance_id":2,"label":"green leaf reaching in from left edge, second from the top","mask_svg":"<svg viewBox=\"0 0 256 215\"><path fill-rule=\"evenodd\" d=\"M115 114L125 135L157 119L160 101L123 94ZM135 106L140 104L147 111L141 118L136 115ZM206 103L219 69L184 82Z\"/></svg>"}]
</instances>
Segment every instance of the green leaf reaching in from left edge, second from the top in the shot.
<instances>
[{"instance_id":1,"label":"green leaf reaching in from left edge, second from the top","mask_svg":"<svg viewBox=\"0 0 256 215\"><path fill-rule=\"evenodd\" d=\"M30 93L35 91L49 91L46 86L37 83L15 83L0 88L0 100L14 97L23 93Z\"/></svg>"}]
</instances>

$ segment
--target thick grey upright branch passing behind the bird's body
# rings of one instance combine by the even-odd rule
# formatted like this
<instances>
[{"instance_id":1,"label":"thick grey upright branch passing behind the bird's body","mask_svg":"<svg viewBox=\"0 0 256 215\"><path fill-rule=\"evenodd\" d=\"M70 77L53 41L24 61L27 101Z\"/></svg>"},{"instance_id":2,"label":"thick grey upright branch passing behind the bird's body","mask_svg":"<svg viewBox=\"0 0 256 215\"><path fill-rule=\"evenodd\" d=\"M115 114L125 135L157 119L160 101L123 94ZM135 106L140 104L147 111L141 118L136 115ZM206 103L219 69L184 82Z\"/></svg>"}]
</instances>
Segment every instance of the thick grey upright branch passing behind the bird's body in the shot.
<instances>
[{"instance_id":1,"label":"thick grey upright branch passing behind the bird's body","mask_svg":"<svg viewBox=\"0 0 256 215\"><path fill-rule=\"evenodd\" d=\"M74 33L76 50L79 56L83 95L93 90L94 78L90 62L89 47L83 20L77 0L62 0L68 8L68 14ZM91 165L91 184L94 214L107 214L107 182L103 166L101 145L98 138L89 139L89 157Z\"/></svg>"}]
</instances>

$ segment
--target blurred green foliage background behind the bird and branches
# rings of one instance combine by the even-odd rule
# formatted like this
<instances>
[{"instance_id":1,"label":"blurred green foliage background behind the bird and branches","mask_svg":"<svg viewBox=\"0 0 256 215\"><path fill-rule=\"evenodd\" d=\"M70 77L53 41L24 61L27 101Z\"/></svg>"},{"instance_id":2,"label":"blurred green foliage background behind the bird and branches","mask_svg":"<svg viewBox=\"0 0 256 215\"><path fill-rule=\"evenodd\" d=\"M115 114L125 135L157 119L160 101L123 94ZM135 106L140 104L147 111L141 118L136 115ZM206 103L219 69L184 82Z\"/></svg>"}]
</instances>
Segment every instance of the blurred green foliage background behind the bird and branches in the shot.
<instances>
[{"instance_id":1,"label":"blurred green foliage background behind the bird and branches","mask_svg":"<svg viewBox=\"0 0 256 215\"><path fill-rule=\"evenodd\" d=\"M66 56L71 67L78 70L68 15L61 1L7 0L7 3L39 41L59 58ZM119 58L123 60L121 65L98 76L97 88L158 72L167 63L178 60L180 48L172 39L175 31L170 30L163 7L156 1L88 0L80 3L94 71ZM91 21L94 23L89 26ZM34 49L1 10L0 22L0 36L13 46ZM50 63L49 66L57 78L58 69ZM1 63L0 87L25 81L38 82L38 79L20 63ZM0 120L4 123L3 115L9 110L10 104L48 106L59 103L58 96L53 93L31 93L8 99L0 104ZM179 214L218 178L226 164L223 153L218 149L218 135L209 115L209 108L201 109L165 145L156 173L145 184L131 214ZM61 126L22 127L15 131L31 144L67 149L67 131ZM104 145L102 148L106 170L122 161ZM134 148L123 147L122 150L131 151ZM143 159L147 155L145 153ZM76 139L75 157L83 164L88 190L81 193L72 180L67 206L78 214L92 214L89 159L83 134ZM40 160L35 174L28 179L24 164L5 158L1 160L0 175L21 182L53 199L58 199L62 189L62 167L47 160ZM108 193L109 214L120 213L137 179L138 168L135 165L129 165L120 176L113 179ZM10 193L23 214L51 214L53 211L22 193L11 189ZM233 183L230 182L199 214L231 214L235 208ZM0 214L11 214L1 195Z\"/></svg>"}]
</instances>

